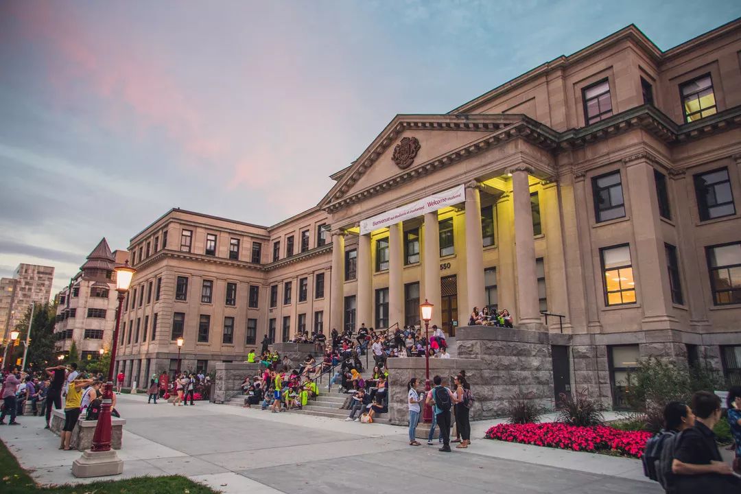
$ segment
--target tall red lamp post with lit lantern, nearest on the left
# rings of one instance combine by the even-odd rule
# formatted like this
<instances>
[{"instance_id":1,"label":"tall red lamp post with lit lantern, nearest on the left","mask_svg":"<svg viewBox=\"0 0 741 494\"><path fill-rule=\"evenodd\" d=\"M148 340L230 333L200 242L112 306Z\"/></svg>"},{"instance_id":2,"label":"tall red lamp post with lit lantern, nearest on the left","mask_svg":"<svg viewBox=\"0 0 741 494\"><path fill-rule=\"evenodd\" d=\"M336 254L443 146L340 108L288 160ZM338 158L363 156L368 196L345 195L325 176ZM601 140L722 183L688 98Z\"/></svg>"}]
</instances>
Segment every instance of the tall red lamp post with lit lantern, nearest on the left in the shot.
<instances>
[{"instance_id":1,"label":"tall red lamp post with lit lantern, nearest on the left","mask_svg":"<svg viewBox=\"0 0 741 494\"><path fill-rule=\"evenodd\" d=\"M111 424L110 409L113 407L113 364L116 361L116 348L119 343L119 325L121 324L121 313L124 307L124 295L129 290L131 278L136 270L130 267L129 262L123 266L116 267L116 291L119 293L119 310L116 311L116 327L113 329L113 341L110 350L110 365L108 366L108 378L103 390L103 401L98 415L98 424L93 435L93 446L91 451L110 450Z\"/></svg>"}]
</instances>

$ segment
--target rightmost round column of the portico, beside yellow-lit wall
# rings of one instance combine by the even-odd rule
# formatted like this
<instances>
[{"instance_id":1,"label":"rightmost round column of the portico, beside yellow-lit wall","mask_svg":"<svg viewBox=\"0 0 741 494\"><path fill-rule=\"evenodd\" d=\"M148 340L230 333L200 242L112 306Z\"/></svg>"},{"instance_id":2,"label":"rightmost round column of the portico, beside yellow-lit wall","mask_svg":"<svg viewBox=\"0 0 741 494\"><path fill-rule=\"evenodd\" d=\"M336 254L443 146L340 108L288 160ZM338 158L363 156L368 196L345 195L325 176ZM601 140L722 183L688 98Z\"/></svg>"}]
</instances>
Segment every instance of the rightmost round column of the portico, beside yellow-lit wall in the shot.
<instances>
[{"instance_id":1,"label":"rightmost round column of the portico, beside yellow-lit wall","mask_svg":"<svg viewBox=\"0 0 741 494\"><path fill-rule=\"evenodd\" d=\"M514 244L517 262L517 324L541 324L538 302L538 278L535 270L535 239L533 238L533 211L530 203L528 167L508 170L512 174L512 201L514 203Z\"/></svg>"}]
</instances>

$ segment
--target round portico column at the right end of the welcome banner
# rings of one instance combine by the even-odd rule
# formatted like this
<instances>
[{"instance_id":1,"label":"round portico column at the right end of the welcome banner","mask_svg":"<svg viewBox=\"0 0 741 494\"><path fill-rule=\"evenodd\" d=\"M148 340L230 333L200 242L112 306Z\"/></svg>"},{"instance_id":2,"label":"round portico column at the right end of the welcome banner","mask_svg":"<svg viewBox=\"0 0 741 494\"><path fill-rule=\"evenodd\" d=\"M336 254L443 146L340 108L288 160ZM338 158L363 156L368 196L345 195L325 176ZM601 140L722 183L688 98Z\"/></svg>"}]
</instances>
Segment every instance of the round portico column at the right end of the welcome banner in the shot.
<instances>
[{"instance_id":1,"label":"round portico column at the right end of the welcome banner","mask_svg":"<svg viewBox=\"0 0 741 494\"><path fill-rule=\"evenodd\" d=\"M465 313L473 307L481 308L484 300L484 241L481 233L481 197L479 183L465 186L465 276L468 304Z\"/></svg>"}]
</instances>

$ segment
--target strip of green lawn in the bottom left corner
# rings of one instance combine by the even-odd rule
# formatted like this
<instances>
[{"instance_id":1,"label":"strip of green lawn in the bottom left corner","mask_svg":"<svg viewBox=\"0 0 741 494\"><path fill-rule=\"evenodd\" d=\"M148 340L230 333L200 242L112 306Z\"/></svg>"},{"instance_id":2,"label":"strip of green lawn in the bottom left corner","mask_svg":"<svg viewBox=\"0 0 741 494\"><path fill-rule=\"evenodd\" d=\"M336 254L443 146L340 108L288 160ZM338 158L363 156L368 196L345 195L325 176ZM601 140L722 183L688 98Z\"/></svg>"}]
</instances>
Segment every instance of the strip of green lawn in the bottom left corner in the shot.
<instances>
[{"instance_id":1,"label":"strip of green lawn in the bottom left corner","mask_svg":"<svg viewBox=\"0 0 741 494\"><path fill-rule=\"evenodd\" d=\"M0 492L3 494L215 494L179 475L99 481L76 486L37 487L0 441Z\"/></svg>"}]
</instances>

